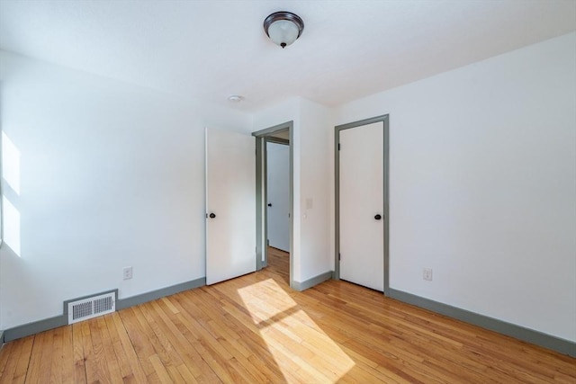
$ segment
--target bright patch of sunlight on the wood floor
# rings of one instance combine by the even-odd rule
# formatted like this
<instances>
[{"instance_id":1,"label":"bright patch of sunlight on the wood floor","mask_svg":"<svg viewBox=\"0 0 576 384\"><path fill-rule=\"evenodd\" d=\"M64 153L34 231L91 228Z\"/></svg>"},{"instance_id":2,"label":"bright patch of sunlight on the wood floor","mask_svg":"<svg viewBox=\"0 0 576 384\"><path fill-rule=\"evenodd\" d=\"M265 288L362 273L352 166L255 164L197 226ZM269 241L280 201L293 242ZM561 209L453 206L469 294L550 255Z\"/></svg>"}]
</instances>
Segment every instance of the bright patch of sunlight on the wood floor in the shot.
<instances>
[{"instance_id":1,"label":"bright patch of sunlight on the wood floor","mask_svg":"<svg viewBox=\"0 0 576 384\"><path fill-rule=\"evenodd\" d=\"M238 295L288 381L337 382L355 366L273 279L240 288Z\"/></svg>"}]
</instances>

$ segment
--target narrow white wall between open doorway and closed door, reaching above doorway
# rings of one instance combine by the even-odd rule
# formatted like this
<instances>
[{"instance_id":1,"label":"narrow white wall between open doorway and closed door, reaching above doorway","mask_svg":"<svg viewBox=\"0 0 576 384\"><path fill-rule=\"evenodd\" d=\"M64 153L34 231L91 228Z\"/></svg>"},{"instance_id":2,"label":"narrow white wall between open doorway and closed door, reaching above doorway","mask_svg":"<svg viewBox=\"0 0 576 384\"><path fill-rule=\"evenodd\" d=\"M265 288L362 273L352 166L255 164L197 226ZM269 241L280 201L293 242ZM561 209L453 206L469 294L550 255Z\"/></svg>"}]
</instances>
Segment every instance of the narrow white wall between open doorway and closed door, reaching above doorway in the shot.
<instances>
[{"instance_id":1,"label":"narrow white wall between open doorway and closed door, reaching above doorway","mask_svg":"<svg viewBox=\"0 0 576 384\"><path fill-rule=\"evenodd\" d=\"M296 97L254 115L253 130L293 121L293 281L333 270L330 254L330 110ZM312 200L307 209L306 201Z\"/></svg>"}]
</instances>

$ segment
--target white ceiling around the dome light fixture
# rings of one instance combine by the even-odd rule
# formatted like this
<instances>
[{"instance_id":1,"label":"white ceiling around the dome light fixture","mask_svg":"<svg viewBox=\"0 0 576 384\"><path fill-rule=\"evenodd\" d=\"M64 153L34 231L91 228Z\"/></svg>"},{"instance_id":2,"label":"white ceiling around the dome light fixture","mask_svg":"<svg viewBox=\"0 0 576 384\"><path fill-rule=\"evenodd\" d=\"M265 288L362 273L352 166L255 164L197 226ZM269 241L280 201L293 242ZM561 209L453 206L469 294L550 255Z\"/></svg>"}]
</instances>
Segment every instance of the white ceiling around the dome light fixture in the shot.
<instances>
[{"instance_id":1,"label":"white ceiling around the dome light fixture","mask_svg":"<svg viewBox=\"0 0 576 384\"><path fill-rule=\"evenodd\" d=\"M305 23L284 50L262 28L276 11ZM574 0L0 0L0 49L247 112L338 105L575 30Z\"/></svg>"}]
</instances>

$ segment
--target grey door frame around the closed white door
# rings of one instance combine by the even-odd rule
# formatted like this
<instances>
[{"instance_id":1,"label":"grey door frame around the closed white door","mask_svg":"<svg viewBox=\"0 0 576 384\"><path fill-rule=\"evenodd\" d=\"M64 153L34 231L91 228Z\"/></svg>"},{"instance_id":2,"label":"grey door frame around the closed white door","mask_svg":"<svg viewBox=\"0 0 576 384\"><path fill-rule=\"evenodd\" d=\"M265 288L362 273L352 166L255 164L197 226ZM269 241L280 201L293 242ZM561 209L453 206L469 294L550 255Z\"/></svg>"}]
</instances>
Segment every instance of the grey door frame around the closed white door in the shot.
<instances>
[{"instance_id":1,"label":"grey door frame around the closed white door","mask_svg":"<svg viewBox=\"0 0 576 384\"><path fill-rule=\"evenodd\" d=\"M390 164L390 137L389 124L390 117L388 114L376 116L370 119L354 121L347 124L337 125L334 127L334 191L335 191L335 255L334 255L334 280L340 280L340 132L344 129L353 129L364 125L373 124L374 122L383 122L383 219L384 219L384 296L390 296L390 254L389 254L389 164Z\"/></svg>"}]
</instances>

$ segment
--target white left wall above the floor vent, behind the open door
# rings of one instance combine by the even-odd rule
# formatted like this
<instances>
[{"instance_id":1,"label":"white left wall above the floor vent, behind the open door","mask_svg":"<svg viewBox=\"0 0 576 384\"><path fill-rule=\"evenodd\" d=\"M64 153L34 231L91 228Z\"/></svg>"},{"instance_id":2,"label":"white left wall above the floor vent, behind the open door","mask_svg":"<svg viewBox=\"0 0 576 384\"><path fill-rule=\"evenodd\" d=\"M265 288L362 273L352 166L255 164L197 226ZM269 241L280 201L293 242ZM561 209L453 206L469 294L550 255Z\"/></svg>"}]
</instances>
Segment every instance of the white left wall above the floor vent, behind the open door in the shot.
<instances>
[{"instance_id":1,"label":"white left wall above the floor vent, behind the open door","mask_svg":"<svg viewBox=\"0 0 576 384\"><path fill-rule=\"evenodd\" d=\"M1 55L2 129L21 178L19 193L3 191L21 249L0 251L0 328L61 315L65 299L202 278L203 129L248 132L251 117Z\"/></svg>"}]
</instances>

